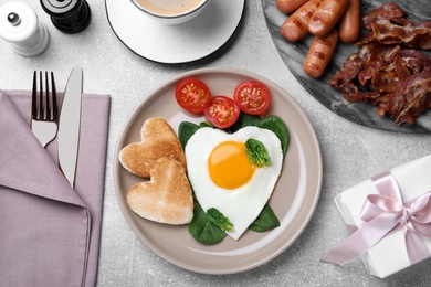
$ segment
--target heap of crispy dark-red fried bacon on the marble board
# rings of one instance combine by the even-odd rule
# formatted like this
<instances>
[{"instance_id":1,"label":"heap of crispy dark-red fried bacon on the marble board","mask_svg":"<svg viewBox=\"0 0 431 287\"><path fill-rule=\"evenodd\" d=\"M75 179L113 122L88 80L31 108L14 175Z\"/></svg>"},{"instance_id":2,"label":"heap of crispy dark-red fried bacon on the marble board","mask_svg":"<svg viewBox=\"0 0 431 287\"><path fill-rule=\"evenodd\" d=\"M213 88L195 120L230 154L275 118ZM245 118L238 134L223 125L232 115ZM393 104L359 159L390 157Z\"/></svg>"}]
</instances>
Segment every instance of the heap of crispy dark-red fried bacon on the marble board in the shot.
<instances>
[{"instance_id":1,"label":"heap of crispy dark-red fried bacon on the marble board","mask_svg":"<svg viewBox=\"0 0 431 287\"><path fill-rule=\"evenodd\" d=\"M404 17L395 3L365 15L364 26L372 32L357 41L360 50L328 81L347 100L377 105L397 125L413 124L431 108L431 59L414 50L431 49L431 21L414 25Z\"/></svg>"}]
</instances>

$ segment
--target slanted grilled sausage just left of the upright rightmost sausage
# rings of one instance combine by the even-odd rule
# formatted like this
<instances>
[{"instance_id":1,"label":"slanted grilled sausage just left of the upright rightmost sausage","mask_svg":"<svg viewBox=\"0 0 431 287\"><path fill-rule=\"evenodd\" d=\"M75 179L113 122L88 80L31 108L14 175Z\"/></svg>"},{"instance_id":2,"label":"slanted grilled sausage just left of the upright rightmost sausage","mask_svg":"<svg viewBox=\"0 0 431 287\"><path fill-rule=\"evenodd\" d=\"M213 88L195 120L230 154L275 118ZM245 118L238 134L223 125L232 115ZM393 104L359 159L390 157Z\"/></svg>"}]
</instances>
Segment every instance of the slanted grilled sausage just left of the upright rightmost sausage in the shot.
<instances>
[{"instance_id":1,"label":"slanted grilled sausage just left of the upright rightmost sausage","mask_svg":"<svg viewBox=\"0 0 431 287\"><path fill-rule=\"evenodd\" d=\"M324 0L308 22L308 31L314 35L328 33L343 15L349 0Z\"/></svg>"}]
</instances>

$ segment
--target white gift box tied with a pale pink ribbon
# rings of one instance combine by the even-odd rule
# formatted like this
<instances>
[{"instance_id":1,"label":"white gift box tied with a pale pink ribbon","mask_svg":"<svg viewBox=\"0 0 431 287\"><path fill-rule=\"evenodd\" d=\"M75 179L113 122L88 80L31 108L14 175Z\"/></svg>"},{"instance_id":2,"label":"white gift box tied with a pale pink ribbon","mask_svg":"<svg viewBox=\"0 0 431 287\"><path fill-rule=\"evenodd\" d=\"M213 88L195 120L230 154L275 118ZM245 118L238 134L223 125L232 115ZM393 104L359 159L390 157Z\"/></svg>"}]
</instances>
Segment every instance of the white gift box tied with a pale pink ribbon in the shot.
<instances>
[{"instance_id":1,"label":"white gift box tied with a pale pink ribbon","mask_svg":"<svg viewBox=\"0 0 431 287\"><path fill-rule=\"evenodd\" d=\"M402 201L406 203L431 190L431 156L427 156L390 170L397 180ZM335 203L347 225L358 226L367 195L378 194L375 183L368 179L335 198ZM431 252L431 238L422 240ZM411 266L403 231L390 233L361 256L369 274L385 278Z\"/></svg>"}]
</instances>

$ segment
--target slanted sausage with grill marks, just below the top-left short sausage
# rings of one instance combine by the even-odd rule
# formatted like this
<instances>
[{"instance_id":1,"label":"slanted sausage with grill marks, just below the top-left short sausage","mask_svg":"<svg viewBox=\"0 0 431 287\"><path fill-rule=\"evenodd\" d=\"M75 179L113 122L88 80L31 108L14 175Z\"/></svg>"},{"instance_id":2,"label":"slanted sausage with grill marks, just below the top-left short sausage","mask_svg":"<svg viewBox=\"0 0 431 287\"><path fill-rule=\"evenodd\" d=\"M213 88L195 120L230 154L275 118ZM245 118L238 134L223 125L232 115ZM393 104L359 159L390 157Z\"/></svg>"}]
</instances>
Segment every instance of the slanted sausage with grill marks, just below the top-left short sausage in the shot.
<instances>
[{"instance_id":1,"label":"slanted sausage with grill marks, just below the top-left short sausage","mask_svg":"<svg viewBox=\"0 0 431 287\"><path fill-rule=\"evenodd\" d=\"M295 42L308 33L308 22L313 13L323 0L309 0L291 14L282 24L282 35L288 41Z\"/></svg>"}]
</instances>

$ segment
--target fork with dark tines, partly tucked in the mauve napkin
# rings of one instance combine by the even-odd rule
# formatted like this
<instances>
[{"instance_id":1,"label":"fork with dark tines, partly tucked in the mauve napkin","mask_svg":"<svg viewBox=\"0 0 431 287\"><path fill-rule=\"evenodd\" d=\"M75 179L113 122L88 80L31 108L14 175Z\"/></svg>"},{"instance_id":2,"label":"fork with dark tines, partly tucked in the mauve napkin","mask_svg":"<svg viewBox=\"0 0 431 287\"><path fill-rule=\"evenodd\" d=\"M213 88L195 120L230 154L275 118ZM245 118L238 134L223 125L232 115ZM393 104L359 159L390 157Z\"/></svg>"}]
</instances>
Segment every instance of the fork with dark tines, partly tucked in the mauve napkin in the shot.
<instances>
[{"instance_id":1,"label":"fork with dark tines, partly tucked in the mauve napkin","mask_svg":"<svg viewBox=\"0 0 431 287\"><path fill-rule=\"evenodd\" d=\"M38 73L33 74L32 93L32 120L31 129L43 147L52 141L57 131L57 105L54 73L51 72L51 93L49 86L48 72L45 72L45 89L43 89L43 76L40 72L39 93L38 93Z\"/></svg>"}]
</instances>

